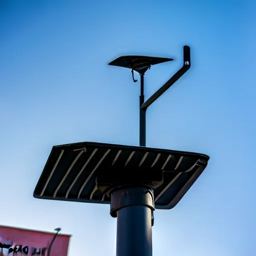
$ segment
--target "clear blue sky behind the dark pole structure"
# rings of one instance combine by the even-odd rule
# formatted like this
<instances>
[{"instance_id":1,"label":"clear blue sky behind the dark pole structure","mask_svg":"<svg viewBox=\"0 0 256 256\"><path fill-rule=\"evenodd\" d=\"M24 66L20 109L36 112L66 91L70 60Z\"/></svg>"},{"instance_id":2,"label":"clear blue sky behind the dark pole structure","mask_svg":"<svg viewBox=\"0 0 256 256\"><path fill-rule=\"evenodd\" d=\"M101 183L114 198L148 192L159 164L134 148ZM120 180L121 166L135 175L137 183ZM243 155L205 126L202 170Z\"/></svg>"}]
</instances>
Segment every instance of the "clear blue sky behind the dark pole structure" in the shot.
<instances>
[{"instance_id":1,"label":"clear blue sky behind the dark pole structure","mask_svg":"<svg viewBox=\"0 0 256 256\"><path fill-rule=\"evenodd\" d=\"M208 167L172 210L156 210L153 254L255 255L253 0L0 0L0 222L72 234L69 255L114 255L109 205L39 200L52 145L138 145L139 84L122 54L173 57L145 77L147 145L201 152ZM254 16L253 16L254 15Z\"/></svg>"}]
</instances>

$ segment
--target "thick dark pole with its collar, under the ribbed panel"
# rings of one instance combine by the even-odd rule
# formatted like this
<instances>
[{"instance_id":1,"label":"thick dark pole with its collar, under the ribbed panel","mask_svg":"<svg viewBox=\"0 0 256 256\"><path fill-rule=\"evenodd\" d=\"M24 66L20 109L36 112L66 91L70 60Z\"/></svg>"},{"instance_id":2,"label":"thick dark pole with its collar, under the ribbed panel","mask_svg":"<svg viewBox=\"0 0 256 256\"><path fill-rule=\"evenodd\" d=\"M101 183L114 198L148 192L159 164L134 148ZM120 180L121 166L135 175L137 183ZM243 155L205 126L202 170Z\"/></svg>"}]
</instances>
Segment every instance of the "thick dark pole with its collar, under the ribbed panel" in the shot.
<instances>
[{"instance_id":1,"label":"thick dark pole with its collar, under the ribbed panel","mask_svg":"<svg viewBox=\"0 0 256 256\"><path fill-rule=\"evenodd\" d=\"M117 215L116 256L152 256L153 192L123 188L111 195L111 215Z\"/></svg>"}]
</instances>

